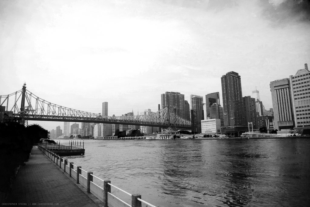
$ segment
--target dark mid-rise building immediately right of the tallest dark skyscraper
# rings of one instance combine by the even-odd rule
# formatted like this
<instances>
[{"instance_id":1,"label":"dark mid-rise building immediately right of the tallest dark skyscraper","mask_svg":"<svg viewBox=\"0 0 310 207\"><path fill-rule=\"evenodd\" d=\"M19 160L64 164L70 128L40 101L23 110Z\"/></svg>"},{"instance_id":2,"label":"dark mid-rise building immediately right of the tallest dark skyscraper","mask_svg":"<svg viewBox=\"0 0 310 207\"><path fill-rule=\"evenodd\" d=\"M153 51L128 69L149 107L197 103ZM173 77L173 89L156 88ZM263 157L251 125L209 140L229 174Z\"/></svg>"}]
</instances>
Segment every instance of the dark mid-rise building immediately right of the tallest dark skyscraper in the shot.
<instances>
[{"instance_id":1,"label":"dark mid-rise building immediately right of the tallest dark skyscraper","mask_svg":"<svg viewBox=\"0 0 310 207\"><path fill-rule=\"evenodd\" d=\"M246 125L248 125L249 122L252 122L253 129L256 129L257 112L256 112L255 98L251 98L251 96L245 96L242 99L243 99L244 121Z\"/></svg>"}]
</instances>

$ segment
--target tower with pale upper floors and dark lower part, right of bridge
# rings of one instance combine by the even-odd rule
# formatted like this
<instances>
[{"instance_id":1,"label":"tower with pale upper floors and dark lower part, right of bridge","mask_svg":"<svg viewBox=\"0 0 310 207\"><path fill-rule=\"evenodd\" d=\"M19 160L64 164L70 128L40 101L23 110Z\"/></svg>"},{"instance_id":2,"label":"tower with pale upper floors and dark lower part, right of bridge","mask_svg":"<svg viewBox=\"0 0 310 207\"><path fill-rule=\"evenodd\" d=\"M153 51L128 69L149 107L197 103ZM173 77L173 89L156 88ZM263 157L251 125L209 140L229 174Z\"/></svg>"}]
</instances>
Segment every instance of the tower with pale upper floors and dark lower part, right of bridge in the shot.
<instances>
[{"instance_id":1,"label":"tower with pale upper floors and dark lower part, right of bridge","mask_svg":"<svg viewBox=\"0 0 310 207\"><path fill-rule=\"evenodd\" d=\"M201 133L201 120L204 120L203 97L190 95L192 130Z\"/></svg>"}]
</instances>

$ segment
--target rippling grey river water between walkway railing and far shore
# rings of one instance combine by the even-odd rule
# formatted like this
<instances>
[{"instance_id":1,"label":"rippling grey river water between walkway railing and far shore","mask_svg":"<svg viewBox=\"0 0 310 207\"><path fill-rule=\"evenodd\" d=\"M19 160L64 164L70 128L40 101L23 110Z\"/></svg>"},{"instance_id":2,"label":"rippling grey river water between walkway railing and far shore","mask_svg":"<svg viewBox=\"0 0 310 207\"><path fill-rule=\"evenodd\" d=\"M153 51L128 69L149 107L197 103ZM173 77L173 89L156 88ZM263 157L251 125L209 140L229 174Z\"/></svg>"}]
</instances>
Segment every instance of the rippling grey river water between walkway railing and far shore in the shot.
<instances>
[{"instance_id":1,"label":"rippling grey river water between walkway railing and far shore","mask_svg":"<svg viewBox=\"0 0 310 207\"><path fill-rule=\"evenodd\" d=\"M85 140L84 146L85 155L68 162L158 207L310 204L310 139ZM112 193L130 200L113 187Z\"/></svg>"}]
</instances>

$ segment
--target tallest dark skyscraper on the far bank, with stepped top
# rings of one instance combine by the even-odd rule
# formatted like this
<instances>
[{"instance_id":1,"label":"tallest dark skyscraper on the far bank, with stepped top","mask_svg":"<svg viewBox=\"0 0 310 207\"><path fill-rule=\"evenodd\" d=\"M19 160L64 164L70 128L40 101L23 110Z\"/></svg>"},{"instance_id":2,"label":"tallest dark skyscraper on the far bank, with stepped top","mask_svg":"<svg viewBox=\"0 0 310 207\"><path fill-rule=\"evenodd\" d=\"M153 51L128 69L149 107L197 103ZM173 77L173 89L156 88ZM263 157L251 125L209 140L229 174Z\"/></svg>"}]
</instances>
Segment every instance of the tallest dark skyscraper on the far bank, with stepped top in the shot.
<instances>
[{"instance_id":1,"label":"tallest dark skyscraper on the far bank, with stepped top","mask_svg":"<svg viewBox=\"0 0 310 207\"><path fill-rule=\"evenodd\" d=\"M225 127L244 126L241 77L231 71L221 77L221 83Z\"/></svg>"}]
</instances>

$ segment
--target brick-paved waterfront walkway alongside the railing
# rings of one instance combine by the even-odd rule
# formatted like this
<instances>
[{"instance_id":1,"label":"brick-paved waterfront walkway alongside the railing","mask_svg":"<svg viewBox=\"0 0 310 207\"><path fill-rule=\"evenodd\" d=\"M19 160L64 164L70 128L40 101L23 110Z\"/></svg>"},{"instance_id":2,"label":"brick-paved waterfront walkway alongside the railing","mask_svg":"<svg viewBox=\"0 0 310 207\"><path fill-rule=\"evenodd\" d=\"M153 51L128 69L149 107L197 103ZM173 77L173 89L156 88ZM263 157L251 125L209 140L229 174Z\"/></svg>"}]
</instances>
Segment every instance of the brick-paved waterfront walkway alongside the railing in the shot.
<instances>
[{"instance_id":1,"label":"brick-paved waterfront walkway alongside the railing","mask_svg":"<svg viewBox=\"0 0 310 207\"><path fill-rule=\"evenodd\" d=\"M93 195L75 184L37 147L33 147L29 161L21 166L6 203L26 206L102 206ZM92 197L93 196L93 197Z\"/></svg>"}]
</instances>

